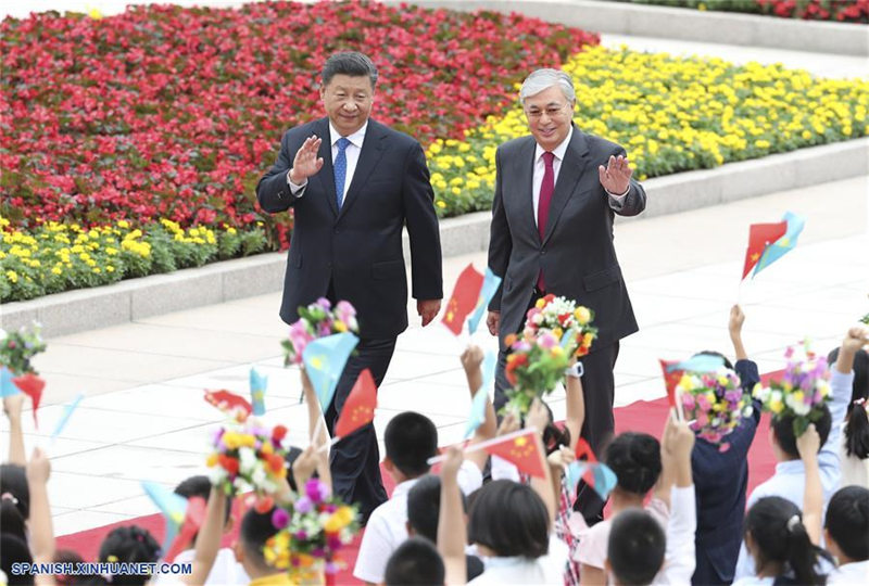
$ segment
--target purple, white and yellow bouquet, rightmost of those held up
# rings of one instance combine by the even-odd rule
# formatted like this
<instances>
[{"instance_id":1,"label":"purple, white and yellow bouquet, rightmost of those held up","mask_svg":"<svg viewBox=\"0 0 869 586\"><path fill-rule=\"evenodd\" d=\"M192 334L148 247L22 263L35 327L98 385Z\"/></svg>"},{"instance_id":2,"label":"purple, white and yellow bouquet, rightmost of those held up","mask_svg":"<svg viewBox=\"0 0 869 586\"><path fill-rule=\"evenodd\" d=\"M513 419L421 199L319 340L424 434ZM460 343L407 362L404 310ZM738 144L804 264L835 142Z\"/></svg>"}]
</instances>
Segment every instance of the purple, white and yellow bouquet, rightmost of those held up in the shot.
<instances>
[{"instance_id":1,"label":"purple, white and yellow bouquet, rightmost of those held up","mask_svg":"<svg viewBox=\"0 0 869 586\"><path fill-rule=\"evenodd\" d=\"M799 437L809 423L822 417L823 405L830 400L827 358L816 357L806 346L802 352L788 348L784 357L788 366L781 381L770 381L768 387L758 384L754 396L764 404L765 411L772 413L772 419L793 417L794 435Z\"/></svg>"}]
</instances>

